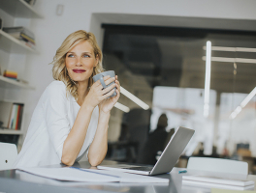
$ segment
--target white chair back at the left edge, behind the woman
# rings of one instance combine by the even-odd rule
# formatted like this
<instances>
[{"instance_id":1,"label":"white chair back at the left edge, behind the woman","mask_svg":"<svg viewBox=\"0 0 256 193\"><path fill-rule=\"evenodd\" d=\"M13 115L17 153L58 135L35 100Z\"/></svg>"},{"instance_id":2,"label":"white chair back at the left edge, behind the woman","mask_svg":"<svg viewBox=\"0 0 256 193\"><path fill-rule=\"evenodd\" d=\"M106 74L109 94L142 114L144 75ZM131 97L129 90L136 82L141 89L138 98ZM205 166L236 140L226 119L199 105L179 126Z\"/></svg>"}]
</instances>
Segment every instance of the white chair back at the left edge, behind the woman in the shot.
<instances>
[{"instance_id":1,"label":"white chair back at the left edge, behind the woman","mask_svg":"<svg viewBox=\"0 0 256 193\"><path fill-rule=\"evenodd\" d=\"M0 170L13 169L17 151L15 144L0 142Z\"/></svg>"}]
</instances>

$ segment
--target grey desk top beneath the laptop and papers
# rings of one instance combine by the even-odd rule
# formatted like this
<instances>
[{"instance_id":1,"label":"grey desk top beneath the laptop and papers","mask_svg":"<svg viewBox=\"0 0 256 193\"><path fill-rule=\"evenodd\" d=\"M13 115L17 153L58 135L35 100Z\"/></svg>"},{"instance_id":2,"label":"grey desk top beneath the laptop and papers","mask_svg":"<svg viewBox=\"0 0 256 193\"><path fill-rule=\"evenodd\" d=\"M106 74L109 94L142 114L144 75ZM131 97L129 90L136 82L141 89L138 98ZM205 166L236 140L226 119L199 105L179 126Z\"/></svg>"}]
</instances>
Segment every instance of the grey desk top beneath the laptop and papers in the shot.
<instances>
[{"instance_id":1,"label":"grey desk top beneath the laptop and papers","mask_svg":"<svg viewBox=\"0 0 256 193\"><path fill-rule=\"evenodd\" d=\"M114 161L104 160L103 164L116 164ZM74 164L75 167L90 168L88 162ZM62 164L48 167L65 167ZM174 168L170 174L159 175L159 178L170 179L169 184L151 183L117 183L109 182L104 184L85 182L62 182L54 179L46 179L24 173L18 170L0 171L0 192L6 193L109 193L109 192L129 192L129 193L209 193L210 189L203 187L191 187L182 185L182 175L195 175L206 173L188 171L185 174L178 174L180 168ZM234 176L234 175L232 175ZM256 176L248 175L247 179L254 180Z\"/></svg>"}]
</instances>

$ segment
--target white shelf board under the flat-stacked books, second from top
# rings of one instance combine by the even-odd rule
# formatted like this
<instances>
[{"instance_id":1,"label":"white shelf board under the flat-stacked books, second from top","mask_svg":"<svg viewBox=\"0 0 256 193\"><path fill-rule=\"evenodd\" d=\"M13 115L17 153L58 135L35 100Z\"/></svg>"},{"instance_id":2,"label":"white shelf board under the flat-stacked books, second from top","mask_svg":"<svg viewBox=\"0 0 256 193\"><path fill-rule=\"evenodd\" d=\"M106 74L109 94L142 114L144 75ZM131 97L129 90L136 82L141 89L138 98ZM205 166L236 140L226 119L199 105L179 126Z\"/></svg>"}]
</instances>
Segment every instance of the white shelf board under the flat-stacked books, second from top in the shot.
<instances>
[{"instance_id":1,"label":"white shelf board under the flat-stacked books, second from top","mask_svg":"<svg viewBox=\"0 0 256 193\"><path fill-rule=\"evenodd\" d=\"M3 30L0 30L0 49L9 53L17 54L26 54L27 51L38 53L35 49L30 48L24 43L25 42L18 41L16 38L12 37Z\"/></svg>"}]
</instances>

